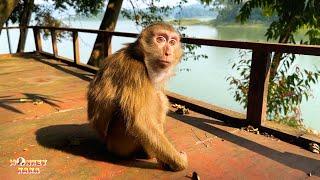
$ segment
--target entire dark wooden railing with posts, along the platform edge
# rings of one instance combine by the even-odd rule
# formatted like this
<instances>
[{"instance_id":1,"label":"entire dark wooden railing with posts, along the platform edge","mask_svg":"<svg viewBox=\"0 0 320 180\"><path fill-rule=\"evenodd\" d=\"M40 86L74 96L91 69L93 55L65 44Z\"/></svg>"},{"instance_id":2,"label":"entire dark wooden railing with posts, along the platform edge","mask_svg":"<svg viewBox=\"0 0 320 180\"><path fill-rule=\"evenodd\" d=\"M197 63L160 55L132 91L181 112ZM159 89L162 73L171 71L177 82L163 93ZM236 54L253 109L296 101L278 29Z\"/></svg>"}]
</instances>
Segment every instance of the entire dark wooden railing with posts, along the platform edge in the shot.
<instances>
[{"instance_id":1,"label":"entire dark wooden railing with posts, along the platform edge","mask_svg":"<svg viewBox=\"0 0 320 180\"><path fill-rule=\"evenodd\" d=\"M52 58L63 60L68 64L72 64L78 68L96 72L97 68L80 63L80 51L79 51L79 40L78 32L83 33L95 33L102 34L104 38L111 38L112 36L132 37L136 38L138 34L135 33L124 33L124 32L108 32L101 30L89 30L89 29L77 29L77 28L57 28L57 27L39 27L39 26L28 26L28 27L9 27L3 29L13 28L31 28L34 33L36 52L50 56ZM53 53L47 53L42 50L42 41L40 37L40 30L47 29L51 32L52 38L52 50ZM73 60L58 56L56 31L68 31L72 33L73 42ZM256 43L256 42L237 42L237 41L224 41L224 40L210 40L210 39L197 39L197 38L182 38L183 43L206 45L206 46L217 46L226 48L237 48L237 49L249 49L252 50L252 64L250 71L250 83L248 91L248 107L247 116L245 121L241 121L241 118L235 118L232 116L225 115L221 112L217 112L211 108L210 105L205 103L193 103L184 97L168 92L168 96L175 102L186 104L189 108L201 112L203 114L218 117L219 120L231 121L232 123L242 126L251 124L255 127L259 127L264 131L271 132L278 137L294 141L295 144L302 146L308 146L309 142L314 142L313 139L305 137L296 137L295 135L283 133L270 129L263 126L263 122L266 118L266 105L267 105L267 93L268 93L268 81L271 63L272 52L283 52L283 53L294 53L304 55L320 56L320 46L310 45L291 45L291 44L276 44L276 43ZM103 45L103 54L108 56L108 44ZM199 105L200 104L200 105ZM234 121L234 120L240 121Z\"/></svg>"}]
</instances>

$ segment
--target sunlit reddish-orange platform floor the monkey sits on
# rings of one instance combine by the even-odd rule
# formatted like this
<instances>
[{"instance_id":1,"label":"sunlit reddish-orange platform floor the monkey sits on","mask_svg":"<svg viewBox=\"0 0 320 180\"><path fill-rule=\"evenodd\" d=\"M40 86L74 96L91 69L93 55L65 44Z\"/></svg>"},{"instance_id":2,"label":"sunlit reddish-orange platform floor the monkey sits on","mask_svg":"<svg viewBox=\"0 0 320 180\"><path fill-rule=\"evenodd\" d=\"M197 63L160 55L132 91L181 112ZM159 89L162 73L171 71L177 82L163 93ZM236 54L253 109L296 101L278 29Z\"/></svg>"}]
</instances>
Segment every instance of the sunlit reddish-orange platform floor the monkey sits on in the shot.
<instances>
[{"instance_id":1,"label":"sunlit reddish-orange platform floor the monkey sits on","mask_svg":"<svg viewBox=\"0 0 320 180\"><path fill-rule=\"evenodd\" d=\"M187 152L188 169L168 172L155 159L116 159L88 127L92 77L35 55L0 56L0 179L190 179L192 172L201 179L320 179L319 154L174 109L166 135ZM19 157L40 161L14 165ZM19 168L38 174L19 174Z\"/></svg>"}]
</instances>

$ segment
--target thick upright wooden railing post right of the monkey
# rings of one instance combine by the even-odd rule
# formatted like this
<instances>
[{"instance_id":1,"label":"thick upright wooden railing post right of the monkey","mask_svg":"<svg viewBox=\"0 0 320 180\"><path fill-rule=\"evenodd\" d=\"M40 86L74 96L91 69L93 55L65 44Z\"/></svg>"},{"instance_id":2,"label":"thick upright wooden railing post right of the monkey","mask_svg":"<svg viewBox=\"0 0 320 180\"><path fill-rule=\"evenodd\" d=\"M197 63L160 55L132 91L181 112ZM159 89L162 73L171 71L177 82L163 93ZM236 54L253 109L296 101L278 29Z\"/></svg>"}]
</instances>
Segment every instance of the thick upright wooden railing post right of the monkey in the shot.
<instances>
[{"instance_id":1,"label":"thick upright wooden railing post right of the monkey","mask_svg":"<svg viewBox=\"0 0 320 180\"><path fill-rule=\"evenodd\" d=\"M270 55L263 49L253 49L252 52L247 121L255 127L260 127L266 118Z\"/></svg>"}]
</instances>

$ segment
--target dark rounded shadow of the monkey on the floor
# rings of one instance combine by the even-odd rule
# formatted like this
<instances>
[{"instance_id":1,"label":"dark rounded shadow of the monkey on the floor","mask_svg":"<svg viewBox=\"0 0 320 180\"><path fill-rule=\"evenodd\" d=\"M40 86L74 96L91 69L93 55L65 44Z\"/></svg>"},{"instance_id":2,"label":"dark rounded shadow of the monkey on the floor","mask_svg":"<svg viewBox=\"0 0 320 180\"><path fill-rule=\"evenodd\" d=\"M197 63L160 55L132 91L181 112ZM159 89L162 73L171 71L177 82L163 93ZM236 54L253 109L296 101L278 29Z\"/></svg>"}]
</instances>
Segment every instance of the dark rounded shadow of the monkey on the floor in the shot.
<instances>
[{"instance_id":1,"label":"dark rounded shadow of the monkey on the floor","mask_svg":"<svg viewBox=\"0 0 320 180\"><path fill-rule=\"evenodd\" d=\"M105 144L89 124L63 124L43 127L36 131L41 146L60 150L87 159L128 167L161 169L157 163L143 159L123 160L107 152Z\"/></svg>"}]
</instances>

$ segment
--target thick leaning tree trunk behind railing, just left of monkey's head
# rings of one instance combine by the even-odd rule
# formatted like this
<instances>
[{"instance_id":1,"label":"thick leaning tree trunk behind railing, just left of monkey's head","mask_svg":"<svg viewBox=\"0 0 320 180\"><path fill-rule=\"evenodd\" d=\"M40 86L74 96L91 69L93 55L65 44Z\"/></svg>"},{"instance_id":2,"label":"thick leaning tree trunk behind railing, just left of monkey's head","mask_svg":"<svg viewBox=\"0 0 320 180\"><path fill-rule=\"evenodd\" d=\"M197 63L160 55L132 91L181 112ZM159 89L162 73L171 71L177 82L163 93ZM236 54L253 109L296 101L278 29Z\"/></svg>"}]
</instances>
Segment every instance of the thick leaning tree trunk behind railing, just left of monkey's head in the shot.
<instances>
[{"instance_id":1,"label":"thick leaning tree trunk behind railing, just left of monkey's head","mask_svg":"<svg viewBox=\"0 0 320 180\"><path fill-rule=\"evenodd\" d=\"M109 0L99 30L114 31L123 0ZM100 62L111 52L111 37L99 33L91 52L89 65L99 67Z\"/></svg>"}]
</instances>

